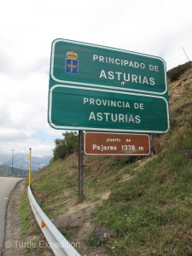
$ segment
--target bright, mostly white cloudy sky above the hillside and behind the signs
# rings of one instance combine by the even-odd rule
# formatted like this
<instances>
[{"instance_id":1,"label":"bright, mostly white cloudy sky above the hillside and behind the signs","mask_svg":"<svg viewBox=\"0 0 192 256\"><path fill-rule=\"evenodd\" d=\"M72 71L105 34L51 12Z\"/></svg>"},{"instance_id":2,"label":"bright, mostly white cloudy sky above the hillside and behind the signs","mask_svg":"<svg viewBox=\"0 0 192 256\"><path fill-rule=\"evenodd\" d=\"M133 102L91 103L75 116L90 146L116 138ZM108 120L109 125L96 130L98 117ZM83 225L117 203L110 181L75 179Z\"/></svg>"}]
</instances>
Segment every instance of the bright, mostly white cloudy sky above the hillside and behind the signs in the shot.
<instances>
[{"instance_id":1,"label":"bright, mostly white cloudy sky above the hillside and behind the signs","mask_svg":"<svg viewBox=\"0 0 192 256\"><path fill-rule=\"evenodd\" d=\"M0 9L0 154L52 154L51 43L65 38L192 61L191 0L7 0ZM187 56L185 55L187 54Z\"/></svg>"}]
</instances>

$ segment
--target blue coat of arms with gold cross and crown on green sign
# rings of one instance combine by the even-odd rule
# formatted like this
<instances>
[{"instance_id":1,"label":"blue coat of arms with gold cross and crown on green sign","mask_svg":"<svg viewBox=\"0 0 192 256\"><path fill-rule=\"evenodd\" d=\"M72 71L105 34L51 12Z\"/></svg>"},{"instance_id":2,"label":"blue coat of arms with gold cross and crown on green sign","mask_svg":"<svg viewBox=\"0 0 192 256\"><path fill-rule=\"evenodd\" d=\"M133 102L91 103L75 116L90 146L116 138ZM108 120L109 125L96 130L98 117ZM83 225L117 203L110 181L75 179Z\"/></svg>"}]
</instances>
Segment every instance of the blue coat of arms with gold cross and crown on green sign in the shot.
<instances>
[{"instance_id":1,"label":"blue coat of arms with gold cross and crown on green sign","mask_svg":"<svg viewBox=\"0 0 192 256\"><path fill-rule=\"evenodd\" d=\"M65 72L73 74L79 73L78 54L73 51L67 51L66 55Z\"/></svg>"}]
</instances>

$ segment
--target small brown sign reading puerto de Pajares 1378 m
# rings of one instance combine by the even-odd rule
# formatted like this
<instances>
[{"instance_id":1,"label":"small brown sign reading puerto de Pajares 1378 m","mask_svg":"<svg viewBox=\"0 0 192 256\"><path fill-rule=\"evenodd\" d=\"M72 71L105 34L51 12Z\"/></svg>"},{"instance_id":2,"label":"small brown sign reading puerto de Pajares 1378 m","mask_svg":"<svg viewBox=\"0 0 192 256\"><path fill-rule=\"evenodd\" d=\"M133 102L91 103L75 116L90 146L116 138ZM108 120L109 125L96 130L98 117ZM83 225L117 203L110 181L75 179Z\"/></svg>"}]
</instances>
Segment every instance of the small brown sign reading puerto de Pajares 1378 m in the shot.
<instances>
[{"instance_id":1,"label":"small brown sign reading puerto de Pajares 1378 m","mask_svg":"<svg viewBox=\"0 0 192 256\"><path fill-rule=\"evenodd\" d=\"M84 153L103 155L150 154L147 134L85 132Z\"/></svg>"}]
</instances>

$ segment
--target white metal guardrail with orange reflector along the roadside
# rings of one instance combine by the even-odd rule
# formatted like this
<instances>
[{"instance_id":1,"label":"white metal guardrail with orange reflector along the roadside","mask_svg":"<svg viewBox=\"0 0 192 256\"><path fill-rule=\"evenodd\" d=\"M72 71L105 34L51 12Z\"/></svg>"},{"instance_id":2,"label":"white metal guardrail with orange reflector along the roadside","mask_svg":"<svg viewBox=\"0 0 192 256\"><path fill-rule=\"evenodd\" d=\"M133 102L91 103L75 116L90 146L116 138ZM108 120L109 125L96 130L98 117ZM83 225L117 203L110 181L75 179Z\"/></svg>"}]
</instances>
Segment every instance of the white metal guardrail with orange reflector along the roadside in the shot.
<instances>
[{"instance_id":1,"label":"white metal guardrail with orange reflector along the roadside","mask_svg":"<svg viewBox=\"0 0 192 256\"><path fill-rule=\"evenodd\" d=\"M67 239L62 236L61 232L57 230L55 225L52 224L49 218L42 211L41 207L38 206L37 201L32 195L30 186L28 186L28 197L32 207L32 212L53 253L56 256L80 256L69 241L67 241Z\"/></svg>"}]
</instances>

